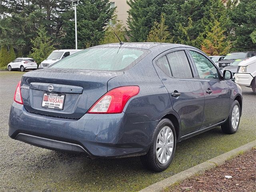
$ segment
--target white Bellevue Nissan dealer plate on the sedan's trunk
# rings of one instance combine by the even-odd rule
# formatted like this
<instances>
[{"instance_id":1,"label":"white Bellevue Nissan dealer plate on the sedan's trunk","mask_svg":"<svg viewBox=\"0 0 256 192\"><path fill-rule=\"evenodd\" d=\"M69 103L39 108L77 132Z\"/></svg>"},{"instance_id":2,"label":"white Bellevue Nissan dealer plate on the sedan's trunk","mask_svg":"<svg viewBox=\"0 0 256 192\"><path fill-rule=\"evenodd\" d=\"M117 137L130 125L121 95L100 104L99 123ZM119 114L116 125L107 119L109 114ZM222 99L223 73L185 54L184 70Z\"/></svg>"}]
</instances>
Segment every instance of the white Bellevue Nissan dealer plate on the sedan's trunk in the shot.
<instances>
[{"instance_id":1,"label":"white Bellevue Nissan dealer plate on the sedan's trunk","mask_svg":"<svg viewBox=\"0 0 256 192\"><path fill-rule=\"evenodd\" d=\"M44 93L42 107L62 110L65 95L56 93Z\"/></svg>"}]
</instances>

